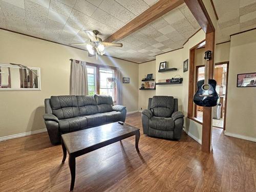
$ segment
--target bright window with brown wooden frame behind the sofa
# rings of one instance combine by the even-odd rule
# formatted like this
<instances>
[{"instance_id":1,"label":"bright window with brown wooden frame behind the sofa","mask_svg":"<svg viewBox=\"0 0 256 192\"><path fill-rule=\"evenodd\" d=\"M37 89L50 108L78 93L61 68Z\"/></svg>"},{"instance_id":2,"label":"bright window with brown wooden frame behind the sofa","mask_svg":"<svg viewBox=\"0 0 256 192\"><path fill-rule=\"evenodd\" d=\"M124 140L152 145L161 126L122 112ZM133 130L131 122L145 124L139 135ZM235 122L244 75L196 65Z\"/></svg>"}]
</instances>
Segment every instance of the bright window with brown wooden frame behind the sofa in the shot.
<instances>
[{"instance_id":1,"label":"bright window with brown wooden frame behind the sofa","mask_svg":"<svg viewBox=\"0 0 256 192\"><path fill-rule=\"evenodd\" d=\"M116 69L87 63L89 95L110 95L116 102Z\"/></svg>"}]
</instances>

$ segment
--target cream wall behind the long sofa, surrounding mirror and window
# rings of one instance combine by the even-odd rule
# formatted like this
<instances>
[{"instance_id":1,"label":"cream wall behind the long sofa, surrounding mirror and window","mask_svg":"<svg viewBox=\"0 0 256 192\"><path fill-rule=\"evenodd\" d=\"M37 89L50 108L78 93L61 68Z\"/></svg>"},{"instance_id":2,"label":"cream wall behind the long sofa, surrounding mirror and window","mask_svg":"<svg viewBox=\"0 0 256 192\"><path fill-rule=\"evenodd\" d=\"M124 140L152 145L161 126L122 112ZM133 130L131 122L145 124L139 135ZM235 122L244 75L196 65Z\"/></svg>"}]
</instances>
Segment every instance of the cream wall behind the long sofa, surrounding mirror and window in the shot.
<instances>
[{"instance_id":1,"label":"cream wall behind the long sofa, surrounding mirror and window","mask_svg":"<svg viewBox=\"0 0 256 192\"><path fill-rule=\"evenodd\" d=\"M120 68L130 83L121 84L121 102L127 111L138 110L138 64L102 56L5 30L0 30L0 63L21 63L41 68L41 91L0 92L0 137L45 129L44 99L69 95L70 58ZM121 78L122 78L121 77Z\"/></svg>"}]
</instances>

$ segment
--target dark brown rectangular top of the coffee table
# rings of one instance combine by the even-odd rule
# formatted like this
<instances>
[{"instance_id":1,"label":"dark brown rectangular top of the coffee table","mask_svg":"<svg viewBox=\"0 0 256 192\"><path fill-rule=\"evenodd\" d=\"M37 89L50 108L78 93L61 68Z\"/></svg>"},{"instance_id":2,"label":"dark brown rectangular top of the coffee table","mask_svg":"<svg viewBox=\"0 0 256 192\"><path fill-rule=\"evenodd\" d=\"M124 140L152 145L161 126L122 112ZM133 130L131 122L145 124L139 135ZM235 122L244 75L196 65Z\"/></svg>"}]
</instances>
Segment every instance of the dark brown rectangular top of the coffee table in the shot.
<instances>
[{"instance_id":1,"label":"dark brown rectangular top of the coffee table","mask_svg":"<svg viewBox=\"0 0 256 192\"><path fill-rule=\"evenodd\" d=\"M129 135L138 131L139 129L132 125L126 123L122 125L118 122L114 122L92 127L86 130L63 134L61 137L68 153L71 154L81 150L84 151L87 148L89 149L88 152L94 151L96 148L108 145L108 142L109 144L113 143L111 141L113 141L115 138Z\"/></svg>"}]
</instances>

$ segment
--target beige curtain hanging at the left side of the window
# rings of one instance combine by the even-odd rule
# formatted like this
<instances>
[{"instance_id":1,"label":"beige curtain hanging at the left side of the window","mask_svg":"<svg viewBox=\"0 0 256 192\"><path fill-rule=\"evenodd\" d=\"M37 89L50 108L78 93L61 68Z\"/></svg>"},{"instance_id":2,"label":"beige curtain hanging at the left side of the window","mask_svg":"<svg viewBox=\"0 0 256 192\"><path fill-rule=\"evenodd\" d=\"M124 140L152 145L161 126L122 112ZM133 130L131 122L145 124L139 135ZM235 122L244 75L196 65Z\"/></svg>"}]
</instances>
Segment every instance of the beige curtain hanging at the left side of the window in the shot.
<instances>
[{"instance_id":1,"label":"beige curtain hanging at the left side of the window","mask_svg":"<svg viewBox=\"0 0 256 192\"><path fill-rule=\"evenodd\" d=\"M70 94L88 95L87 69L84 61L72 60Z\"/></svg>"}]
</instances>

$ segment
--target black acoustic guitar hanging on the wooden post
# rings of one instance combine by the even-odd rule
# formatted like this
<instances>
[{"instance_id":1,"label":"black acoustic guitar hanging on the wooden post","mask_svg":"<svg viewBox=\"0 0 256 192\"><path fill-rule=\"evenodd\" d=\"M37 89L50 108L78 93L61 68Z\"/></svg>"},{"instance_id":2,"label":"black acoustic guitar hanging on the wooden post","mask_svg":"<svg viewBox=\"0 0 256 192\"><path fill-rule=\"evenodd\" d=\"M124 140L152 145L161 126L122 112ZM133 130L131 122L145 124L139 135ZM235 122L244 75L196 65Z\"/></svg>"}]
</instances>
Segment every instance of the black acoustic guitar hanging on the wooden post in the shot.
<instances>
[{"instance_id":1,"label":"black acoustic guitar hanging on the wooden post","mask_svg":"<svg viewBox=\"0 0 256 192\"><path fill-rule=\"evenodd\" d=\"M211 51L204 53L205 67L204 67L204 79L197 82L197 92L194 95L193 101L199 106L216 106L220 97L216 92L216 80L208 78L209 60L211 59ZM208 83L205 83L205 81Z\"/></svg>"}]
</instances>

